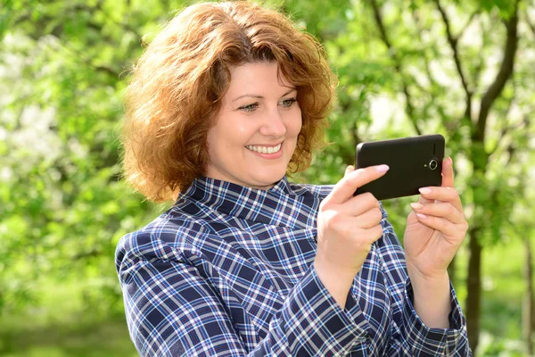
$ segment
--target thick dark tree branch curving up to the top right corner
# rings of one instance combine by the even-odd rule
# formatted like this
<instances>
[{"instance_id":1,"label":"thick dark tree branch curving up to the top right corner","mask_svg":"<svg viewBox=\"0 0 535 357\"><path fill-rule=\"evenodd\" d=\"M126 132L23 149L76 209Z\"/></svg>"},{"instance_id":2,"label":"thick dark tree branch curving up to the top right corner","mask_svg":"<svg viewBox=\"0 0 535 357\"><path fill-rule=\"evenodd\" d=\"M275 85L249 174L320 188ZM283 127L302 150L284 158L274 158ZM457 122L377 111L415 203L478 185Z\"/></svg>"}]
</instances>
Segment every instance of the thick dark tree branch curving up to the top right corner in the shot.
<instances>
[{"instance_id":1,"label":"thick dark tree branch curving up to the top right corner","mask_svg":"<svg viewBox=\"0 0 535 357\"><path fill-rule=\"evenodd\" d=\"M511 78L511 75L513 74L514 56L516 54L516 48L518 47L518 3L519 0L516 0L514 3L514 12L506 21L507 38L504 59L501 62L501 66L494 82L492 82L487 89L487 92L481 98L481 109L475 131L473 132L473 138L476 139L475 141L481 143L484 142L485 128L487 126L487 118L489 117L490 108L496 101L496 98L498 98L498 95L501 94L507 80Z\"/></svg>"}]
</instances>

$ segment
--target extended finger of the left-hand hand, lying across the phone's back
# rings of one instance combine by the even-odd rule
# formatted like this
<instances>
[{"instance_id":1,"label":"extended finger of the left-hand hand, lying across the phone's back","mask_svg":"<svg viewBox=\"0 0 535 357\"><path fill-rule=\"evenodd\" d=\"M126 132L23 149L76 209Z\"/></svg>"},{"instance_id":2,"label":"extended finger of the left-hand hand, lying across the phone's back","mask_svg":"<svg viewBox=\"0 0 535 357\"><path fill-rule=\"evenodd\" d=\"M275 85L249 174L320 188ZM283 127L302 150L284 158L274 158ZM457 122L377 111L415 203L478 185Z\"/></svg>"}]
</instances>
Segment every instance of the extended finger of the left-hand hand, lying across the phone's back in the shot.
<instances>
[{"instance_id":1,"label":"extended finger of the left-hand hand, lying across the phone's back","mask_svg":"<svg viewBox=\"0 0 535 357\"><path fill-rule=\"evenodd\" d=\"M350 172L333 187L333 191L325 197L328 203L344 203L353 197L358 187L366 185L374 179L382 177L389 167L387 165L369 166Z\"/></svg>"}]
</instances>

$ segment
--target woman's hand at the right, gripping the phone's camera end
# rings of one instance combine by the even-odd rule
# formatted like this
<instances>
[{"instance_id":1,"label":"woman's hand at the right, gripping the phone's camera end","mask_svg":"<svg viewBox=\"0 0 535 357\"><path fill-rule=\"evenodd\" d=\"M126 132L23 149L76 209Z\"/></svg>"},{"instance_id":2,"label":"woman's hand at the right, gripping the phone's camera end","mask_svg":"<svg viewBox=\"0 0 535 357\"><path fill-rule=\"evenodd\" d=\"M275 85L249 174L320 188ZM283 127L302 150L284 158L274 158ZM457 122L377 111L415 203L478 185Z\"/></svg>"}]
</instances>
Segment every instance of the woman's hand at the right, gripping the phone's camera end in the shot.
<instances>
[{"instance_id":1,"label":"woman's hand at the right, gripping the phone's camera end","mask_svg":"<svg viewBox=\"0 0 535 357\"><path fill-rule=\"evenodd\" d=\"M420 189L418 203L407 217L404 245L412 278L442 278L465 239L468 223L454 188L453 162L442 162L442 186Z\"/></svg>"}]
</instances>

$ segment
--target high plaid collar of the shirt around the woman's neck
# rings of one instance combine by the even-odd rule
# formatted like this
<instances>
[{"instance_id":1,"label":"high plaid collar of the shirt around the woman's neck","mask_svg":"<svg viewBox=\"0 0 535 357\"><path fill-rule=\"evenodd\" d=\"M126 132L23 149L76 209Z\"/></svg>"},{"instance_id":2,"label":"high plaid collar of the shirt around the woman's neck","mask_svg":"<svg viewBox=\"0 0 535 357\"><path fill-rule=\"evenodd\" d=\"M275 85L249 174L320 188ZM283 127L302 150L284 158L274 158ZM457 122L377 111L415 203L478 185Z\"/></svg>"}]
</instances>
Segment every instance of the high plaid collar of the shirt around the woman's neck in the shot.
<instances>
[{"instance_id":1,"label":"high plaid collar of the shirt around the woman's neck","mask_svg":"<svg viewBox=\"0 0 535 357\"><path fill-rule=\"evenodd\" d=\"M178 195L176 205L195 203L228 216L275 226L316 227L321 197L302 187L297 194L292 186L285 176L268 190L201 177Z\"/></svg>"}]
</instances>

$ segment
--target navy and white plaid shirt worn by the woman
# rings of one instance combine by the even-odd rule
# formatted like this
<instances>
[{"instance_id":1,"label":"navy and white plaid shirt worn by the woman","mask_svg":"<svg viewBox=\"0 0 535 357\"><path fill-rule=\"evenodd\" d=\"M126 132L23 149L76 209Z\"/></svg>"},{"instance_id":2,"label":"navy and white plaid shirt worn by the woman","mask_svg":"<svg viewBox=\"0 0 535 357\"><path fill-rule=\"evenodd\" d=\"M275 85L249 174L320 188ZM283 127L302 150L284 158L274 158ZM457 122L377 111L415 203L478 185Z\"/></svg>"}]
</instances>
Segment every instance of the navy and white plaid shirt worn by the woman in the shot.
<instances>
[{"instance_id":1,"label":"navy and white plaid shirt worn by the woman","mask_svg":"<svg viewBox=\"0 0 535 357\"><path fill-rule=\"evenodd\" d=\"M314 269L317 210L333 187L286 178L269 190L196 179L177 203L122 237L116 264L130 336L143 356L469 356L451 288L451 329L411 303L404 252L383 237L344 309Z\"/></svg>"}]
</instances>

